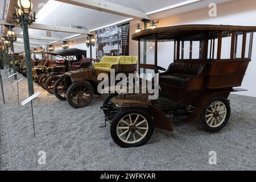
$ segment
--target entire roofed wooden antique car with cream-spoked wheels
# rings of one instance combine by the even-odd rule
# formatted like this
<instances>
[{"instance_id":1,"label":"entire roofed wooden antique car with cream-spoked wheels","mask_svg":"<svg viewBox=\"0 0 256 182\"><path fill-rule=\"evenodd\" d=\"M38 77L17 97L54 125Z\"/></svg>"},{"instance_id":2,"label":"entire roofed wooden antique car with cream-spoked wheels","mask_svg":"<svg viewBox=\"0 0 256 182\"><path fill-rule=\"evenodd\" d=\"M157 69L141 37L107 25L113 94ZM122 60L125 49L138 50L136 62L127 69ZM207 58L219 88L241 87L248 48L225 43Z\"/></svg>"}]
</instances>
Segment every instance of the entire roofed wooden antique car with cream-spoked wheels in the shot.
<instances>
[{"instance_id":1,"label":"entire roofed wooden antique car with cream-spoked wheels","mask_svg":"<svg viewBox=\"0 0 256 182\"><path fill-rule=\"evenodd\" d=\"M174 49L174 63L159 73L159 97L148 100L148 93L121 93L102 106L110 133L121 147L146 143L154 127L173 131L168 115L183 116L185 122L199 118L205 130L215 132L230 117L230 92L245 91L241 86L249 62L256 27L181 25L144 30L133 40L154 43L154 61L140 62L140 71L165 69L158 66L158 44ZM162 45L163 47L163 45ZM150 59L152 57L148 57ZM139 60L141 60L139 58ZM171 61L172 62L172 61ZM161 64L163 65L163 64ZM156 80L152 80L156 81Z\"/></svg>"}]
</instances>

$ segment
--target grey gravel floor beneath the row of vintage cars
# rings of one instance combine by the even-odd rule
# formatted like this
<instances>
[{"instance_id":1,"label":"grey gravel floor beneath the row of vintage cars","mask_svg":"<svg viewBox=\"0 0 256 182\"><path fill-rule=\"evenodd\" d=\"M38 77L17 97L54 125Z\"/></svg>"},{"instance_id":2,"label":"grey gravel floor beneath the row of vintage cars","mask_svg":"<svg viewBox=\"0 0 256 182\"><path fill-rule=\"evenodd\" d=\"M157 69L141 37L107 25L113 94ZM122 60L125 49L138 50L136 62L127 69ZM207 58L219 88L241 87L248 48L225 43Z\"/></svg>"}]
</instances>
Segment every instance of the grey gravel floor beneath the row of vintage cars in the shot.
<instances>
[{"instance_id":1,"label":"grey gravel floor beneath the row of vintage cars","mask_svg":"<svg viewBox=\"0 0 256 182\"><path fill-rule=\"evenodd\" d=\"M16 87L13 91L3 71L2 76L7 104L1 97L1 170L256 169L256 98L230 95L232 114L218 133L206 133L197 122L177 121L173 133L156 129L146 145L120 148L110 137L110 125L100 128L104 97L73 109L37 84L35 91L42 95L33 102L34 138L31 105L18 107ZM26 81L19 85L20 101L27 97ZM45 165L38 164L39 151L46 152ZM208 163L209 151L217 152L217 165Z\"/></svg>"}]
</instances>

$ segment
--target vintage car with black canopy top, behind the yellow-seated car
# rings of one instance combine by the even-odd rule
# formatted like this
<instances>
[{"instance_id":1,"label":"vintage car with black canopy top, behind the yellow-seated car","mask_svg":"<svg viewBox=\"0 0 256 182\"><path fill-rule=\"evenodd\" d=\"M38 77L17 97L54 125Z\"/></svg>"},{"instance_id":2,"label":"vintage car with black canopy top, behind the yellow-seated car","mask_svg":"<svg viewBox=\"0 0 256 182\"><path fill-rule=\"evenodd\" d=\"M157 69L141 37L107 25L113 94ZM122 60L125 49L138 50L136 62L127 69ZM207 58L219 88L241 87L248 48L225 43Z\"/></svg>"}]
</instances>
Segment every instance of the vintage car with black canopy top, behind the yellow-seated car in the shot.
<instances>
[{"instance_id":1,"label":"vintage car with black canopy top, behind the yellow-seated car","mask_svg":"<svg viewBox=\"0 0 256 182\"><path fill-rule=\"evenodd\" d=\"M48 52L51 56L59 57L59 60L50 61L45 72L38 78L39 84L46 89L48 93L53 94L53 85L59 79L57 75L63 75L65 72L72 70L72 64L86 57L86 51L70 48ZM42 69L42 68L40 68Z\"/></svg>"}]
</instances>

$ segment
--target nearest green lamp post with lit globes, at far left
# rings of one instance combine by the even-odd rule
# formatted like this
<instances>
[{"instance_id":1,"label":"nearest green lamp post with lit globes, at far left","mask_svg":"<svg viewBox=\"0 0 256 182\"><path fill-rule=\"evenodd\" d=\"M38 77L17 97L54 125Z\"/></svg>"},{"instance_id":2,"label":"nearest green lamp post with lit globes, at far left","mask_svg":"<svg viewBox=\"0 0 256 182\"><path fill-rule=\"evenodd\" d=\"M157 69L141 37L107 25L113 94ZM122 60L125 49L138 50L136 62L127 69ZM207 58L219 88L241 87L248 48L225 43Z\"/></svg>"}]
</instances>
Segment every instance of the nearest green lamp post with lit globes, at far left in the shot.
<instances>
[{"instance_id":1,"label":"nearest green lamp post with lit globes, at far left","mask_svg":"<svg viewBox=\"0 0 256 182\"><path fill-rule=\"evenodd\" d=\"M24 51L25 51L25 60L27 66L27 83L28 83L28 93L29 96L34 94L34 85L32 80L32 65L31 65L31 53L30 53L30 39L28 36L28 25L35 22L35 11L34 14L31 14L31 9L33 5L31 0L18 0L18 8L14 13L14 22L20 24L23 30L23 40L24 40Z\"/></svg>"}]
</instances>

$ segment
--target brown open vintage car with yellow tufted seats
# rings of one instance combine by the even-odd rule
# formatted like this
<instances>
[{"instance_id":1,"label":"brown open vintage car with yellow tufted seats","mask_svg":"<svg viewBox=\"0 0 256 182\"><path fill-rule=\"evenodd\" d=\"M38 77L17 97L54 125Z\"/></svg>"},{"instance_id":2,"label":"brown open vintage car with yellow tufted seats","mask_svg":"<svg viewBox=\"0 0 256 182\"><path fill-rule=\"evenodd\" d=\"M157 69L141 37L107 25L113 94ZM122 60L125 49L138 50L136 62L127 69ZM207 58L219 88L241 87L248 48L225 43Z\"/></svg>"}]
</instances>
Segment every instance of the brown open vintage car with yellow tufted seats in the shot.
<instances>
[{"instance_id":1,"label":"brown open vintage car with yellow tufted seats","mask_svg":"<svg viewBox=\"0 0 256 182\"><path fill-rule=\"evenodd\" d=\"M91 59L94 64L89 68L80 68L64 73L54 85L54 93L60 100L67 100L74 108L85 107L92 101L93 95L100 95L97 86L101 82L100 73L133 73L137 71L137 56L103 56L101 61Z\"/></svg>"}]
</instances>

